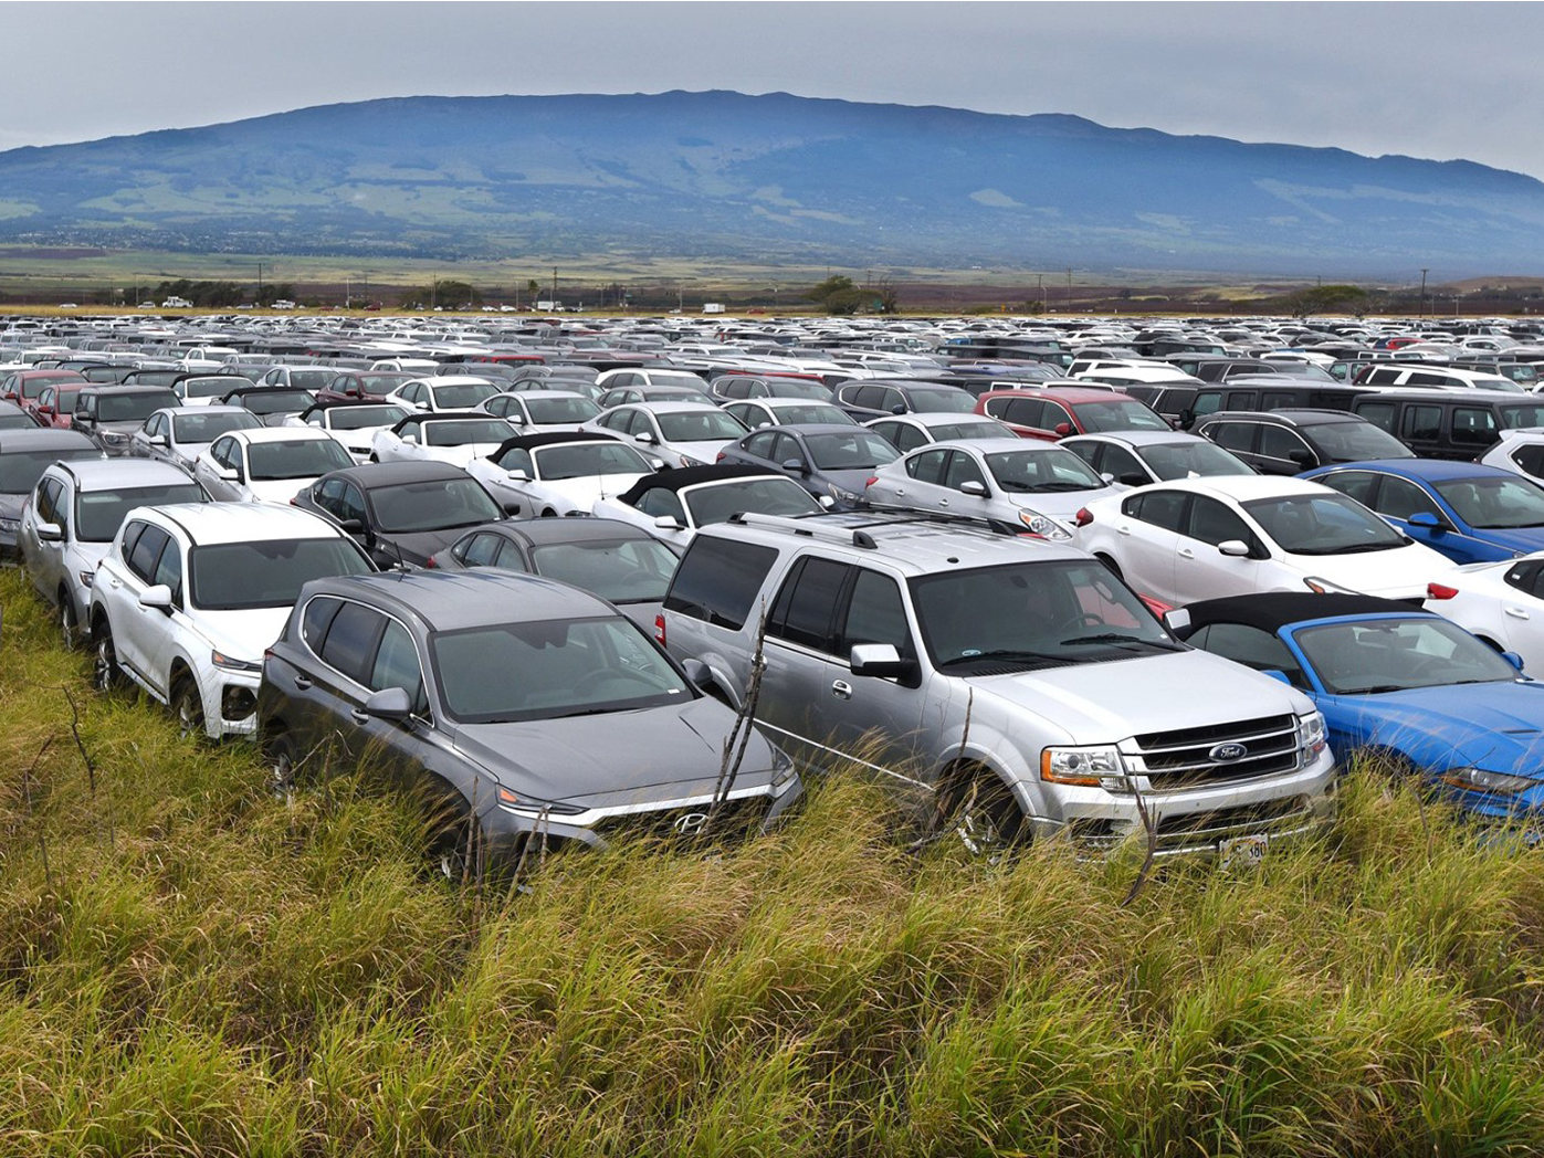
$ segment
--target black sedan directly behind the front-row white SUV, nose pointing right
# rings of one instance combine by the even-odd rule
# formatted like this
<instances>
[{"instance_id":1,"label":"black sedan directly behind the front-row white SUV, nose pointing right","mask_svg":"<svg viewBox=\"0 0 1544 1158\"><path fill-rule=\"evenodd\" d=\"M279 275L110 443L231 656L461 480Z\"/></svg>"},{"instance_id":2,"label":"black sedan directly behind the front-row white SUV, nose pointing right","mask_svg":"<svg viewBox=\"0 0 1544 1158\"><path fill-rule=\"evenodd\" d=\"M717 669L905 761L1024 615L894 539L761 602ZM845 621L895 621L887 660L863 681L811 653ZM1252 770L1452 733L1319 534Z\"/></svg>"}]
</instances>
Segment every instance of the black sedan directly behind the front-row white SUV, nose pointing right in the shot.
<instances>
[{"instance_id":1,"label":"black sedan directly behind the front-row white SUV, nose pointing right","mask_svg":"<svg viewBox=\"0 0 1544 1158\"><path fill-rule=\"evenodd\" d=\"M499 502L459 466L366 463L324 474L290 502L332 519L377 567L423 567L468 527L502 519Z\"/></svg>"}]
</instances>

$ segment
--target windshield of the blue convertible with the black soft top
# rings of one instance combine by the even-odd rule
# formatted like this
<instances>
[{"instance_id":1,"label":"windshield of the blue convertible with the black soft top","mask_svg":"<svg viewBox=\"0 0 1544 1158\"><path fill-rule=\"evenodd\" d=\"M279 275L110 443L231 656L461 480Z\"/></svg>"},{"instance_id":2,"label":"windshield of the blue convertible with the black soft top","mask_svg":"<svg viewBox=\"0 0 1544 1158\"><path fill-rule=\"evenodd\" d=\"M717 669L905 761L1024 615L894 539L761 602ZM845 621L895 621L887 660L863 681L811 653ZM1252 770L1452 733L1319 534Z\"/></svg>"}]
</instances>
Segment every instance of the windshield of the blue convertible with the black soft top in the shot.
<instances>
[{"instance_id":1,"label":"windshield of the blue convertible with the black soft top","mask_svg":"<svg viewBox=\"0 0 1544 1158\"><path fill-rule=\"evenodd\" d=\"M1294 639L1332 695L1518 678L1512 664L1445 619L1325 624L1295 631Z\"/></svg>"}]
</instances>

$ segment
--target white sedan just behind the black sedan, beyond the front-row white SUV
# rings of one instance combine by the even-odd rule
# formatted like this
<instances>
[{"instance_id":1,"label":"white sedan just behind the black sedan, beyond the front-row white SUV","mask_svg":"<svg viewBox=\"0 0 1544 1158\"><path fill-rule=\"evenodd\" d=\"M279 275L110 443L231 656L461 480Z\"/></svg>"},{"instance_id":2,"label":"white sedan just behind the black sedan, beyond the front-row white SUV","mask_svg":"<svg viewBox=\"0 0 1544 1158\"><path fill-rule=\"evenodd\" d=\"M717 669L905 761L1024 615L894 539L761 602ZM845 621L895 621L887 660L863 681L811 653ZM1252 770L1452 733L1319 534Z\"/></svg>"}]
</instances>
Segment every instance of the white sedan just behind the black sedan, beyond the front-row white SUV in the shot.
<instances>
[{"instance_id":1,"label":"white sedan just behind the black sedan, beyond the front-row white SUV","mask_svg":"<svg viewBox=\"0 0 1544 1158\"><path fill-rule=\"evenodd\" d=\"M289 503L327 471L352 465L326 431L262 426L218 437L193 460L193 477L219 502Z\"/></svg>"}]
</instances>

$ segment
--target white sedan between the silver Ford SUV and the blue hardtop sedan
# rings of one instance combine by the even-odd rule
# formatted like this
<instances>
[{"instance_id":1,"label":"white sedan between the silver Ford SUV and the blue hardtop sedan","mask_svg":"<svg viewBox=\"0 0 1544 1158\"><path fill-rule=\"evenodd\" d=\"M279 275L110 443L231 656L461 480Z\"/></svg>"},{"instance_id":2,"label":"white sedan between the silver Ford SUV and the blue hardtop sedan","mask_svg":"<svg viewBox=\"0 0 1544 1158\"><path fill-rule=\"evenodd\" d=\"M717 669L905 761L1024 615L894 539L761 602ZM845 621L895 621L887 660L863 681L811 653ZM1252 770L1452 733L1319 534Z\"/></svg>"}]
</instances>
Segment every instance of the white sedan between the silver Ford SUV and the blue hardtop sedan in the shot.
<instances>
[{"instance_id":1,"label":"white sedan between the silver Ford SUV and the blue hardtop sedan","mask_svg":"<svg viewBox=\"0 0 1544 1158\"><path fill-rule=\"evenodd\" d=\"M1175 479L1089 503L1075 542L1170 607L1252 591L1424 599L1453 570L1354 499L1302 479Z\"/></svg>"}]
</instances>

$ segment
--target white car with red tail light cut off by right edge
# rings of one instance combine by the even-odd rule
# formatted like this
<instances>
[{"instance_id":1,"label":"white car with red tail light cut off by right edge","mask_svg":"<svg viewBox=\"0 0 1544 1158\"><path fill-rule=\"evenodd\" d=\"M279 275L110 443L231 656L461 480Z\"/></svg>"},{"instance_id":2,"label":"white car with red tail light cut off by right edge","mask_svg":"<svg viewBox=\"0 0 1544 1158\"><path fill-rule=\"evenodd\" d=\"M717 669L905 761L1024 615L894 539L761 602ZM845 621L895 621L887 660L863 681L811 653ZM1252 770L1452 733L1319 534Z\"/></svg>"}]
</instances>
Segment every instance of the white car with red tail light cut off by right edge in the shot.
<instances>
[{"instance_id":1,"label":"white car with red tail light cut off by right edge","mask_svg":"<svg viewBox=\"0 0 1544 1158\"><path fill-rule=\"evenodd\" d=\"M1544 672L1544 551L1458 567L1427 585L1427 610Z\"/></svg>"}]
</instances>

